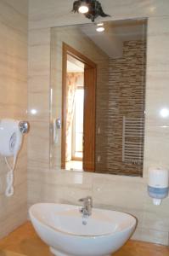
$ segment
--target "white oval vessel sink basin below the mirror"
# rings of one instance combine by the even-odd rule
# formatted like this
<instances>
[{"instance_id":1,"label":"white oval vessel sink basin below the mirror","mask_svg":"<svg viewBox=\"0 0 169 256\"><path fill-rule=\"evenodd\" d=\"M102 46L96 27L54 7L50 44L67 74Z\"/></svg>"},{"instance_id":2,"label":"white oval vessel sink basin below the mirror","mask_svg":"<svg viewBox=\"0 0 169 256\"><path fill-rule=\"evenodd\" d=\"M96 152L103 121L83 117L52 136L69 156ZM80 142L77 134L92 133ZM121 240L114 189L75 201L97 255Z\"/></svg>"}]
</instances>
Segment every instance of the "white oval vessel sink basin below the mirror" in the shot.
<instances>
[{"instance_id":1,"label":"white oval vessel sink basin below the mirror","mask_svg":"<svg viewBox=\"0 0 169 256\"><path fill-rule=\"evenodd\" d=\"M30 210L31 222L56 256L104 256L124 245L136 227L136 218L124 212L93 208L82 218L81 207L42 203Z\"/></svg>"}]
</instances>

